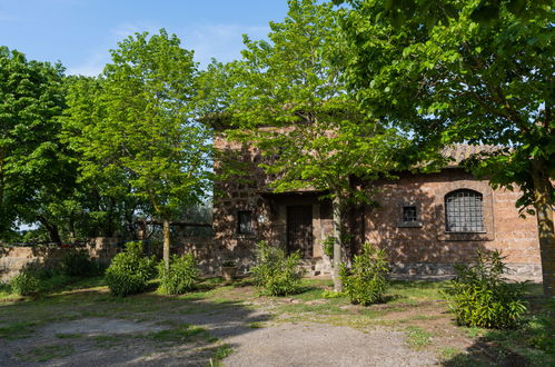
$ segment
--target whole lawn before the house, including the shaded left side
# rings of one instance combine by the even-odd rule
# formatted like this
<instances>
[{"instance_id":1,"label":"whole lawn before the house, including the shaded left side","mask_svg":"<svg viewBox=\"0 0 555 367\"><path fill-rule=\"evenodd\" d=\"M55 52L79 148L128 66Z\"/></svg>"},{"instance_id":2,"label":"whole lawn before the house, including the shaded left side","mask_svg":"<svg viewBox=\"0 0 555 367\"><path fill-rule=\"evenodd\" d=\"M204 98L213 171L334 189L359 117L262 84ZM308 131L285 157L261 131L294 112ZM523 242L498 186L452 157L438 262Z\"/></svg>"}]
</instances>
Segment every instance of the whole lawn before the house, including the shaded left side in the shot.
<instances>
[{"instance_id":1,"label":"whole lawn before the house, including the shaded left side","mask_svg":"<svg viewBox=\"0 0 555 367\"><path fill-rule=\"evenodd\" d=\"M19 297L3 286L0 344L11 361L22 363L109 358L163 364L185 356L217 365L234 350L226 336L287 323L321 323L364 333L404 331L409 348L433 353L447 366L555 365L554 302L539 297L537 285L527 288L531 314L519 330L456 326L442 294L445 282L392 281L387 301L369 307L334 296L331 285L306 279L303 292L281 298L257 297L249 279L229 284L210 278L182 296L152 290L126 298L111 296L101 277L59 279L37 297ZM10 361L1 358L0 365Z\"/></svg>"}]
</instances>

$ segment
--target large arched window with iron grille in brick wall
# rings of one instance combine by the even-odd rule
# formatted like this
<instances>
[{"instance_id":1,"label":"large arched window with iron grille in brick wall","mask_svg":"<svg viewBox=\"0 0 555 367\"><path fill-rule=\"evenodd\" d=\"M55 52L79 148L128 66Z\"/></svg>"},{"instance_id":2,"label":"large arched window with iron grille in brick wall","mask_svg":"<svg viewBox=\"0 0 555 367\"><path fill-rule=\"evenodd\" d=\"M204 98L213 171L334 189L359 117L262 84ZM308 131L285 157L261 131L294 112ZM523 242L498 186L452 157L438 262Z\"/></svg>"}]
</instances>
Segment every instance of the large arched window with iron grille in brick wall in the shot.
<instances>
[{"instance_id":1,"label":"large arched window with iron grille in brick wall","mask_svg":"<svg viewBox=\"0 0 555 367\"><path fill-rule=\"evenodd\" d=\"M449 232L484 231L482 194L468 189L445 196L445 229Z\"/></svg>"}]
</instances>

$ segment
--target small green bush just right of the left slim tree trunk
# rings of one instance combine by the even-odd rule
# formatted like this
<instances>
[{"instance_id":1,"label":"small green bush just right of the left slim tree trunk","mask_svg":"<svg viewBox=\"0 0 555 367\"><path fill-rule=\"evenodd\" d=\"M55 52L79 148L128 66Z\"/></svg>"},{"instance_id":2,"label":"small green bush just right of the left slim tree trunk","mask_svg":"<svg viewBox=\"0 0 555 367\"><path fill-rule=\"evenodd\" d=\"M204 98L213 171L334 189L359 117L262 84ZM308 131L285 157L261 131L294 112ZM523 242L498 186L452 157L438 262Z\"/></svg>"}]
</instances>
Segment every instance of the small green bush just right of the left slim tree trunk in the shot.
<instances>
[{"instance_id":1,"label":"small green bush just right of the left slim tree trunk","mask_svg":"<svg viewBox=\"0 0 555 367\"><path fill-rule=\"evenodd\" d=\"M197 261L192 254L184 256L174 255L170 259L169 269L162 262L158 265L160 274L160 290L169 295L182 295L195 289L199 271Z\"/></svg>"}]
</instances>

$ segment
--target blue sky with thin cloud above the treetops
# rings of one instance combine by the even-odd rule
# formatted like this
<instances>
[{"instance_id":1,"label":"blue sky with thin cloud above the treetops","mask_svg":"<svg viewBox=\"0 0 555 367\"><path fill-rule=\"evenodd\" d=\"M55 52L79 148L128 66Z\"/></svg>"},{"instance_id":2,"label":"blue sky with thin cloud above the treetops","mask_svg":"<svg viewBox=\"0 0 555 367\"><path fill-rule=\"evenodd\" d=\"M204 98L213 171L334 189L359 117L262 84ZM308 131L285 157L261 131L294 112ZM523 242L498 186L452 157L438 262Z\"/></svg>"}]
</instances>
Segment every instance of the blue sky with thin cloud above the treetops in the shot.
<instances>
[{"instance_id":1,"label":"blue sky with thin cloud above the treetops","mask_svg":"<svg viewBox=\"0 0 555 367\"><path fill-rule=\"evenodd\" d=\"M286 12L286 0L0 0L0 46L93 76L119 40L166 28L206 66L238 58L242 33L264 38Z\"/></svg>"}]
</instances>

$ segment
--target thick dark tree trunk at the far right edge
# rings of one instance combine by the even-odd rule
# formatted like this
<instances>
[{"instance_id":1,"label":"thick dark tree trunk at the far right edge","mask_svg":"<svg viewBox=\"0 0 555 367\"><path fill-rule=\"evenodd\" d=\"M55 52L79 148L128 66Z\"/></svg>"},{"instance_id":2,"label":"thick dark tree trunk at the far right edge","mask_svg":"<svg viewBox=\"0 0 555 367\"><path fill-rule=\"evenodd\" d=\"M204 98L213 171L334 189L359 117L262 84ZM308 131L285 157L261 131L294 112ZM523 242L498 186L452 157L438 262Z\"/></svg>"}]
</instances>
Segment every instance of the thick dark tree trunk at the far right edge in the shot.
<instances>
[{"instance_id":1,"label":"thick dark tree trunk at the far right edge","mask_svg":"<svg viewBox=\"0 0 555 367\"><path fill-rule=\"evenodd\" d=\"M543 159L533 162L534 207L539 234L539 254L544 295L555 297L555 230L553 226L552 184Z\"/></svg>"}]
</instances>

